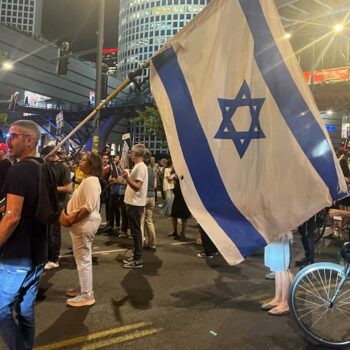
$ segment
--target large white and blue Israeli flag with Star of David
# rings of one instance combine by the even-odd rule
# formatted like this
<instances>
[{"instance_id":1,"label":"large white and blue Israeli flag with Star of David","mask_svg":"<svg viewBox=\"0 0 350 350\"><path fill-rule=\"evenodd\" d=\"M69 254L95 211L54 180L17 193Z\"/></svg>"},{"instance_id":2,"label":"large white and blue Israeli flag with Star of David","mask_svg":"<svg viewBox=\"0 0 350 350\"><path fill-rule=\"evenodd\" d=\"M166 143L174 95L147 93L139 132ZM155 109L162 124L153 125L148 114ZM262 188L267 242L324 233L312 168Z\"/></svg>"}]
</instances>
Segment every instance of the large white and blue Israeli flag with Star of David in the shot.
<instances>
[{"instance_id":1,"label":"large white and blue Israeli flag with Star of David","mask_svg":"<svg viewBox=\"0 0 350 350\"><path fill-rule=\"evenodd\" d=\"M214 0L151 59L193 216L228 263L347 195L271 0Z\"/></svg>"}]
</instances>

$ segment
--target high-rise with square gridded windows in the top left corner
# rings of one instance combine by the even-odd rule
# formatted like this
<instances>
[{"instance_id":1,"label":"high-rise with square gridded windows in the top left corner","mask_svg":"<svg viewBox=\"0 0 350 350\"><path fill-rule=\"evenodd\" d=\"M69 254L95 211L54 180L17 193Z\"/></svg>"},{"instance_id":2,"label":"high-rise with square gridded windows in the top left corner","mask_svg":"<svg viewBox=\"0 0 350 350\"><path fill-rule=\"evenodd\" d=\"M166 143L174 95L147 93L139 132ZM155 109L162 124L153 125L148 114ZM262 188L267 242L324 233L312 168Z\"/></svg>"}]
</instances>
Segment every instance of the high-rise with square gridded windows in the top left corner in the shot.
<instances>
[{"instance_id":1,"label":"high-rise with square gridded windows in the top left corner","mask_svg":"<svg viewBox=\"0 0 350 350\"><path fill-rule=\"evenodd\" d=\"M0 23L23 32L41 33L42 0L0 0Z\"/></svg>"}]
</instances>

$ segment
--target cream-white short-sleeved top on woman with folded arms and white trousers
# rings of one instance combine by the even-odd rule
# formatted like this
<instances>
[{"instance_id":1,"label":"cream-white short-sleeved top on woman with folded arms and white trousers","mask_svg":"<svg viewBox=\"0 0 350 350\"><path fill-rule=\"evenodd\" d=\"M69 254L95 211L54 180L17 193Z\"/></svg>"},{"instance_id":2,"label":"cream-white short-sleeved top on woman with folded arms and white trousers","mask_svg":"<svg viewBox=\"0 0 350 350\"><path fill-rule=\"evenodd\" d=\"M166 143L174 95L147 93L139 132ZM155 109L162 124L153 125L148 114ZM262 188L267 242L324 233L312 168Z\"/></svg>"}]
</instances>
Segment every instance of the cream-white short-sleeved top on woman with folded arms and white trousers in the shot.
<instances>
[{"instance_id":1,"label":"cream-white short-sleeved top on woman with folded arms and white trousers","mask_svg":"<svg viewBox=\"0 0 350 350\"><path fill-rule=\"evenodd\" d=\"M101 185L96 176L88 176L81 182L80 186L73 192L67 204L67 212L76 213L82 208L92 216L100 215ZM90 216L89 215L89 216Z\"/></svg>"}]
</instances>

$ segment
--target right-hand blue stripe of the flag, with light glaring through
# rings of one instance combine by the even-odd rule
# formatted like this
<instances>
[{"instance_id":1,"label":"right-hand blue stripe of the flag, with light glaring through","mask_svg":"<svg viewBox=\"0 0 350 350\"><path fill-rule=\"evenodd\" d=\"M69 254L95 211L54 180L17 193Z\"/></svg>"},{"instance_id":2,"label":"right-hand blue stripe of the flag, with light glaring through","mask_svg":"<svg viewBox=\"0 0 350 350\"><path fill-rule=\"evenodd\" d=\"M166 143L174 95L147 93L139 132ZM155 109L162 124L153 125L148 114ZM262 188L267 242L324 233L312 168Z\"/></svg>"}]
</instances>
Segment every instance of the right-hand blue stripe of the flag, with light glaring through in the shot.
<instances>
[{"instance_id":1,"label":"right-hand blue stripe of the flag, with light glaring through","mask_svg":"<svg viewBox=\"0 0 350 350\"><path fill-rule=\"evenodd\" d=\"M239 0L254 38L254 57L290 131L309 161L328 186L333 200L346 195L340 192L333 153L315 116L302 94L275 43L259 0Z\"/></svg>"}]
</instances>

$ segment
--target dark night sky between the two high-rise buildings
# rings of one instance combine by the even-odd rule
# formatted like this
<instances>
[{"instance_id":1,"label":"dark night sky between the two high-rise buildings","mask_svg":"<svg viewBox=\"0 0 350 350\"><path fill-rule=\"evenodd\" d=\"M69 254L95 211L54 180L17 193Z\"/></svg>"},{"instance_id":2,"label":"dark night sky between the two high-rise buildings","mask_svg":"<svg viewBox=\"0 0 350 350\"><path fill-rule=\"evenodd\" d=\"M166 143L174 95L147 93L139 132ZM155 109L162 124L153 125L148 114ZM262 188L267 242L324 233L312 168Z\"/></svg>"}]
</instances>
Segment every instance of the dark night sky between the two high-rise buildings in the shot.
<instances>
[{"instance_id":1,"label":"dark night sky between the two high-rise buildings","mask_svg":"<svg viewBox=\"0 0 350 350\"><path fill-rule=\"evenodd\" d=\"M73 52L96 48L98 1L44 0L42 35L50 41L70 42ZM106 0L105 7L104 47L117 47L119 0Z\"/></svg>"}]
</instances>

